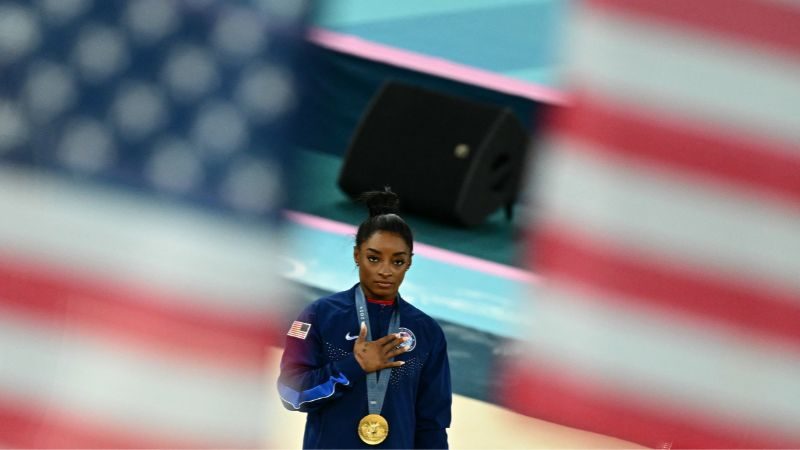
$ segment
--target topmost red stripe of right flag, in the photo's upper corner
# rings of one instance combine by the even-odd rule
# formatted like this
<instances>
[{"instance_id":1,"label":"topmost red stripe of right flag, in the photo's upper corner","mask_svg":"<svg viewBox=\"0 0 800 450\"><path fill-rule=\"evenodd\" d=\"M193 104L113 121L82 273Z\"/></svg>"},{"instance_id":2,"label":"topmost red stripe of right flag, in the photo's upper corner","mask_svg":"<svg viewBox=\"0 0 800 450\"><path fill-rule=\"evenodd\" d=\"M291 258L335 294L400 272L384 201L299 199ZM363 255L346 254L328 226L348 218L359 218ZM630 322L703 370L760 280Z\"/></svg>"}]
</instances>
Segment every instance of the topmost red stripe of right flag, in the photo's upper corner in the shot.
<instances>
[{"instance_id":1,"label":"topmost red stripe of right flag, in the photo's upper corner","mask_svg":"<svg viewBox=\"0 0 800 450\"><path fill-rule=\"evenodd\" d=\"M590 8L655 19L800 56L800 8L756 0L589 0Z\"/></svg>"}]
</instances>

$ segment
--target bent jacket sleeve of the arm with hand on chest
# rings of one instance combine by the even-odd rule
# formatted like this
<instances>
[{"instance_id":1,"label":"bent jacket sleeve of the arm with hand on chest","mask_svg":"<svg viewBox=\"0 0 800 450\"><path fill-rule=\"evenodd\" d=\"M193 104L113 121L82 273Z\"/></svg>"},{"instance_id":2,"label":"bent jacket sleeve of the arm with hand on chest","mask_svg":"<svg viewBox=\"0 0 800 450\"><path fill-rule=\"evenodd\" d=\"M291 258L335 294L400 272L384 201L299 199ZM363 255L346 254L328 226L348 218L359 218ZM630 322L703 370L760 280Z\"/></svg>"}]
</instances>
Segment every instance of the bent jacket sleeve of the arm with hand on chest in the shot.
<instances>
[{"instance_id":1,"label":"bent jacket sleeve of the arm with hand on chest","mask_svg":"<svg viewBox=\"0 0 800 450\"><path fill-rule=\"evenodd\" d=\"M278 394L290 411L314 411L341 397L364 374L352 353L336 362L328 360L314 307L310 305L297 318L311 324L305 339L286 336Z\"/></svg>"}]
</instances>

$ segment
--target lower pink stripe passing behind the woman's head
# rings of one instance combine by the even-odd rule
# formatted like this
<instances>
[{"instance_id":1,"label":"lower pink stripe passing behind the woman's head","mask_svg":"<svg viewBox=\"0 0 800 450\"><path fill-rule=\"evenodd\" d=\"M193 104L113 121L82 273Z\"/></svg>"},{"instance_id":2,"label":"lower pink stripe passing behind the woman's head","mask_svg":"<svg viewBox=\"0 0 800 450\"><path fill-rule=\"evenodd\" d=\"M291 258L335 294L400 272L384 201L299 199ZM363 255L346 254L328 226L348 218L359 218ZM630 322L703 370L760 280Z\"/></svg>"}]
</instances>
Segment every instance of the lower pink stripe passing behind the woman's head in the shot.
<instances>
[{"instance_id":1,"label":"lower pink stripe passing behind the woman's head","mask_svg":"<svg viewBox=\"0 0 800 450\"><path fill-rule=\"evenodd\" d=\"M286 210L284 211L284 215L294 223L328 233L355 236L357 231L356 227L352 225L297 211ZM497 277L526 283L537 282L539 280L538 276L527 270L518 269L516 267L511 267L492 261L486 261L485 259L475 258L474 256L451 252L449 250L444 250L432 245L415 242L414 248L414 253L417 255L422 255L426 258L441 261L454 266L464 267L476 272L488 273Z\"/></svg>"}]
</instances>

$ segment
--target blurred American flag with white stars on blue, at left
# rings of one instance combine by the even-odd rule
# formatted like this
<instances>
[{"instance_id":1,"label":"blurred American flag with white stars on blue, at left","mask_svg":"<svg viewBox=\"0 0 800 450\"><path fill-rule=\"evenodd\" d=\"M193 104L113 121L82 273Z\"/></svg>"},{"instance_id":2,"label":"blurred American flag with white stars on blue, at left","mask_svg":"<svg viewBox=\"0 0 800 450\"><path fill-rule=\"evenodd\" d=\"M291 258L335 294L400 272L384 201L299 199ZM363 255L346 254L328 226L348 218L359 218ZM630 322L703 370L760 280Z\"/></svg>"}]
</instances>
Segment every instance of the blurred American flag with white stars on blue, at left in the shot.
<instances>
[{"instance_id":1,"label":"blurred American flag with white stars on blue, at left","mask_svg":"<svg viewBox=\"0 0 800 450\"><path fill-rule=\"evenodd\" d=\"M0 0L0 446L269 444L307 9Z\"/></svg>"}]
</instances>

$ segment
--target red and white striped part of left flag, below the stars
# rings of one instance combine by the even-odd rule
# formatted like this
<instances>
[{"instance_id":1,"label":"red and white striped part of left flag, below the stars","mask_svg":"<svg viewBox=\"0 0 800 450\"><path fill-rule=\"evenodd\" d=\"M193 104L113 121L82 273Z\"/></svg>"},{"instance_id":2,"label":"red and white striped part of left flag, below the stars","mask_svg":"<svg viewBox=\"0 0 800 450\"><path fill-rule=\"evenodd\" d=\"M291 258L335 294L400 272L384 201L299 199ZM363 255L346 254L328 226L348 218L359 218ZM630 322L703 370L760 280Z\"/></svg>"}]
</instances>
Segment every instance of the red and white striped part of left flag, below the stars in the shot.
<instances>
[{"instance_id":1,"label":"red and white striped part of left flag, below the stars","mask_svg":"<svg viewBox=\"0 0 800 450\"><path fill-rule=\"evenodd\" d=\"M275 230L8 168L0 216L0 444L266 444Z\"/></svg>"}]
</instances>

